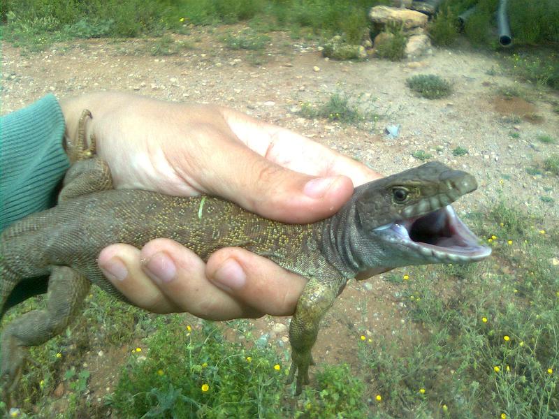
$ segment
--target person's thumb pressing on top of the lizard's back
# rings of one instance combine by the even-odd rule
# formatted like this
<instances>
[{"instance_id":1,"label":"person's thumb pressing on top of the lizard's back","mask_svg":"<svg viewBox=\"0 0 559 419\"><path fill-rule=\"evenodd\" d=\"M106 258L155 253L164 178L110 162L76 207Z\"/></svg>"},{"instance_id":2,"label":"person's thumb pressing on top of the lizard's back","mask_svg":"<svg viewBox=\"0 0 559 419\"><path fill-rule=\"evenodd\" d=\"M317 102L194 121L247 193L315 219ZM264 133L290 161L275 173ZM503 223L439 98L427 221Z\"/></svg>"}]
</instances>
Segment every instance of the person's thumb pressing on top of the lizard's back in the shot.
<instances>
[{"instance_id":1,"label":"person's thumb pressing on top of the lizard's back","mask_svg":"<svg viewBox=\"0 0 559 419\"><path fill-rule=\"evenodd\" d=\"M224 142L216 152L204 165L212 168L201 176L204 189L269 219L288 223L324 219L340 210L353 193L349 177L295 172L239 142Z\"/></svg>"}]
</instances>

